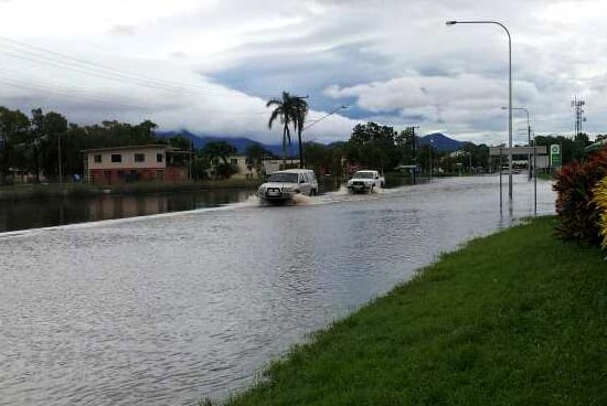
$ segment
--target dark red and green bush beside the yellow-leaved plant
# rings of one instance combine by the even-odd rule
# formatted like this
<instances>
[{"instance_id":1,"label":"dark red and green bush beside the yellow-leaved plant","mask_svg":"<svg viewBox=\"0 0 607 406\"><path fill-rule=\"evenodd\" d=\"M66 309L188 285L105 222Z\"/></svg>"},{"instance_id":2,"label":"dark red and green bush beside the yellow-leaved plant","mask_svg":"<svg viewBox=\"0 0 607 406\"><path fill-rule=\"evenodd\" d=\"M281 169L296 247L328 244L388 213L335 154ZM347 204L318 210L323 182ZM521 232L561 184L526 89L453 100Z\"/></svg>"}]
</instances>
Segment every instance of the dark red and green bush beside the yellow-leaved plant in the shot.
<instances>
[{"instance_id":1,"label":"dark red and green bush beside the yellow-leaved plant","mask_svg":"<svg viewBox=\"0 0 607 406\"><path fill-rule=\"evenodd\" d=\"M592 154L586 162L572 162L556 174L556 232L565 241L599 245L599 210L593 200L597 182L607 175L607 149Z\"/></svg>"}]
</instances>

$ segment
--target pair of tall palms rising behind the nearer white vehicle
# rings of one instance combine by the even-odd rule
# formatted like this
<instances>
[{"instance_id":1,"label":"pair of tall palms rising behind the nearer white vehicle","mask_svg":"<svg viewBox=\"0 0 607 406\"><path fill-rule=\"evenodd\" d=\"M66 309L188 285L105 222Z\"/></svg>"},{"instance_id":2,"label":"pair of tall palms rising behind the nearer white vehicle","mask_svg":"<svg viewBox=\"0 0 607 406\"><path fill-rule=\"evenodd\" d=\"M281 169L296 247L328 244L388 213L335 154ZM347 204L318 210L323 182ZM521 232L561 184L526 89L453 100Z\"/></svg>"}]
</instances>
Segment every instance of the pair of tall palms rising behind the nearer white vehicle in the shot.
<instances>
[{"instance_id":1,"label":"pair of tall palms rising behind the nearer white vehicle","mask_svg":"<svg viewBox=\"0 0 607 406\"><path fill-rule=\"evenodd\" d=\"M266 107L276 106L271 111L268 120L268 127L271 128L277 118L283 124L283 167L287 164L287 142L291 143L291 132L289 126L292 125L294 130L299 136L299 165L303 164L301 149L301 131L303 122L308 114L308 103L305 97L291 96L288 92L283 92L281 98L273 98L266 104Z\"/></svg>"}]
</instances>

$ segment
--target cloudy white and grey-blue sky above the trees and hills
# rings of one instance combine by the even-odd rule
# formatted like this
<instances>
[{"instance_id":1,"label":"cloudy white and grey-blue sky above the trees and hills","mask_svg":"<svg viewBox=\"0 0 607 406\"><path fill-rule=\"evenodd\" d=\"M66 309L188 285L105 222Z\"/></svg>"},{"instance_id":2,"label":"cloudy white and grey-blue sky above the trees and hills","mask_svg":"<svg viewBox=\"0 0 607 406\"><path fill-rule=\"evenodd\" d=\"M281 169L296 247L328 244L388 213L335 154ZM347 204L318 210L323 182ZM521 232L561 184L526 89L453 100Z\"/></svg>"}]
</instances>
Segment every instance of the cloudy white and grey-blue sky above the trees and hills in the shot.
<instances>
[{"instance_id":1,"label":"cloudy white and grey-blue sky above the trees and hills","mask_svg":"<svg viewBox=\"0 0 607 406\"><path fill-rule=\"evenodd\" d=\"M537 133L607 132L607 8L577 0L0 0L0 105L70 121L150 119L164 130L276 143L265 103L309 96L306 140L358 122L459 140L508 138L513 106ZM348 105L348 109L339 109ZM513 138L526 142L524 113Z\"/></svg>"}]
</instances>

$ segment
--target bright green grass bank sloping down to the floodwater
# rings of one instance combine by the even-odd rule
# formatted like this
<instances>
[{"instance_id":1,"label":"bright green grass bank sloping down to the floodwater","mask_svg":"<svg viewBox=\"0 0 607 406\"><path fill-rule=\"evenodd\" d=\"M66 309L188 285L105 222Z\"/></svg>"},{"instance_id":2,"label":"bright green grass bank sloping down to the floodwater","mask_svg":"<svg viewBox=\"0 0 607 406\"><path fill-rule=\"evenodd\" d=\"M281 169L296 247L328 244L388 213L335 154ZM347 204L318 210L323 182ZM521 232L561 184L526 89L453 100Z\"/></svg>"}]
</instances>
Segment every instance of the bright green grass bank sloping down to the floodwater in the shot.
<instances>
[{"instance_id":1,"label":"bright green grass bank sloping down to the floodwater","mask_svg":"<svg viewBox=\"0 0 607 406\"><path fill-rule=\"evenodd\" d=\"M553 222L443 256L227 404L607 404L607 265Z\"/></svg>"}]
</instances>

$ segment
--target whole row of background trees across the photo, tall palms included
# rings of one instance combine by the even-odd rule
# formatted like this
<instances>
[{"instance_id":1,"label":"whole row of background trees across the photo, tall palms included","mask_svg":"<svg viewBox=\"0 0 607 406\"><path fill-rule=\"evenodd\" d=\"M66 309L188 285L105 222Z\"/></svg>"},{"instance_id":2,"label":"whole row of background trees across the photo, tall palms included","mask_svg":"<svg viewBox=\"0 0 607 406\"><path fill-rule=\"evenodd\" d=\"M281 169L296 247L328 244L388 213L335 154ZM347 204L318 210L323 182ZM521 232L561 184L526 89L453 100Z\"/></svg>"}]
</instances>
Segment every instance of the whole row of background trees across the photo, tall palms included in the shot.
<instances>
[{"instance_id":1,"label":"whole row of background trees across the photo, tall palms included","mask_svg":"<svg viewBox=\"0 0 607 406\"><path fill-rule=\"evenodd\" d=\"M308 110L303 97L283 94L281 99L268 101L268 107L275 107L268 125L280 119L283 124L283 147L286 157L286 145L290 141L289 126L294 127L301 140L301 130ZM286 117L285 117L286 115ZM40 175L51 181L58 180L58 159L61 143L61 160L63 173L82 174L84 162L82 151L87 149L121 147L132 145L167 143L183 150L194 152L191 173L194 179L230 178L235 168L228 157L235 154L236 148L225 141L209 142L203 148L194 150L192 142L178 135L171 138L158 137L157 125L150 120L137 125L105 120L100 124L79 126L68 122L55 111L44 113L36 108L28 116L20 110L0 107L0 184L6 184L13 170L22 170ZM583 160L584 148L590 143L588 136L579 133L576 137L537 136L539 146L558 143L562 146L563 163ZM489 147L462 143L464 154L451 157L449 152L432 149L430 146L419 146L419 138L413 129L395 131L393 127L376 122L356 125L348 141L329 146L307 142L299 148L300 164L315 169L318 173L343 174L347 163L366 169L390 171L398 164L426 169L433 162L440 162L447 169L464 168L464 170L488 170L491 162ZM246 150L249 169L262 170L262 161L273 157L260 145L252 145ZM274 158L274 157L273 157Z\"/></svg>"}]
</instances>

